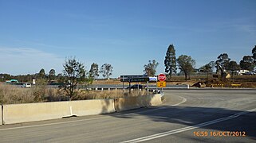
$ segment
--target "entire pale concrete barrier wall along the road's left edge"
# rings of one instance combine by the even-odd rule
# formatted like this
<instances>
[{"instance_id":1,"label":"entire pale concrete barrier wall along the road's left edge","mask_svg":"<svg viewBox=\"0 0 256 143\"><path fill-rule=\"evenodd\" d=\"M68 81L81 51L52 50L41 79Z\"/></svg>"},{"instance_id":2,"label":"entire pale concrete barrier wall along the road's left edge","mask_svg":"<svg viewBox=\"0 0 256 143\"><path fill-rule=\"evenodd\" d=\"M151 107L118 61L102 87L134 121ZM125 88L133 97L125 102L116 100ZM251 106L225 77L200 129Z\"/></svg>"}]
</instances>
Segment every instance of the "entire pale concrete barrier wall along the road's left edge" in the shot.
<instances>
[{"instance_id":1,"label":"entire pale concrete barrier wall along the road's left edge","mask_svg":"<svg viewBox=\"0 0 256 143\"><path fill-rule=\"evenodd\" d=\"M105 114L137 109L143 106L156 106L161 103L161 95L144 95L115 99L115 101L114 99L98 99L3 105L3 110L0 110L0 125L2 125L2 122L3 124L14 124L70 117L73 115Z\"/></svg>"}]
</instances>

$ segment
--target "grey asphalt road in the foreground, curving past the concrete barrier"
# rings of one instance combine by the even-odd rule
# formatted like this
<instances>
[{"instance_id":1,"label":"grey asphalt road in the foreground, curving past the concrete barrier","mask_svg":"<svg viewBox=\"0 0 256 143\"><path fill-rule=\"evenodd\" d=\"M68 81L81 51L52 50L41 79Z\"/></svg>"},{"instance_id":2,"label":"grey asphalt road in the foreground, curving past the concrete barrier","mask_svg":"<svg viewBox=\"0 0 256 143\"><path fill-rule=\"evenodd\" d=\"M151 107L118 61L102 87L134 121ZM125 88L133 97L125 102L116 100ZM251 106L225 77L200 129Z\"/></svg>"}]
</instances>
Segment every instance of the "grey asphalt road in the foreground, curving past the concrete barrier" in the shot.
<instances>
[{"instance_id":1,"label":"grey asphalt road in the foreground, curving past the concrete barrier","mask_svg":"<svg viewBox=\"0 0 256 143\"><path fill-rule=\"evenodd\" d=\"M0 126L0 142L256 141L256 90L168 90L165 95L163 105L151 108Z\"/></svg>"}]
</instances>

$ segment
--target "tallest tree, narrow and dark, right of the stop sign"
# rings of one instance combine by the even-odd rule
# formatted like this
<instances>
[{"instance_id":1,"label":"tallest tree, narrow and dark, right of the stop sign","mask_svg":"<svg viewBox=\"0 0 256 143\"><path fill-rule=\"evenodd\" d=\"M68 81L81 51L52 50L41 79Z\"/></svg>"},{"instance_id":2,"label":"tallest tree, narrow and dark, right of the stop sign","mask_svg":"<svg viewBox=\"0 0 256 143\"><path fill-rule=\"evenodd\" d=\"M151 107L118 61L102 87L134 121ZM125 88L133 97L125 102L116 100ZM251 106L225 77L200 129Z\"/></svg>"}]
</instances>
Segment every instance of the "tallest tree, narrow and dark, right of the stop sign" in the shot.
<instances>
[{"instance_id":1,"label":"tallest tree, narrow and dark, right of the stop sign","mask_svg":"<svg viewBox=\"0 0 256 143\"><path fill-rule=\"evenodd\" d=\"M169 79L171 79L171 74L173 72L176 72L177 70L175 48L173 44L170 44L167 49L165 60L164 60L164 66L165 66L165 72L168 73Z\"/></svg>"}]
</instances>

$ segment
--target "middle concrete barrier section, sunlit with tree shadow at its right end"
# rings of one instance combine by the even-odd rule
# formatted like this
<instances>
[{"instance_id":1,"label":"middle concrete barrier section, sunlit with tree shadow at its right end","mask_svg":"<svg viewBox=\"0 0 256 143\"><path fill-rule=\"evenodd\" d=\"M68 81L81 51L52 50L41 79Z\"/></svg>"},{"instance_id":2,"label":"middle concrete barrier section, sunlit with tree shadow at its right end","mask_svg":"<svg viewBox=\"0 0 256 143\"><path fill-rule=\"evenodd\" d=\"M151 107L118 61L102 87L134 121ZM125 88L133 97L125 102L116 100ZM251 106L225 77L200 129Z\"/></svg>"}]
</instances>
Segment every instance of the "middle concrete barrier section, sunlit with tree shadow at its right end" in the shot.
<instances>
[{"instance_id":1,"label":"middle concrete barrier section, sunlit with tree shadow at its right end","mask_svg":"<svg viewBox=\"0 0 256 143\"><path fill-rule=\"evenodd\" d=\"M72 114L76 116L116 112L114 99L82 100L69 102L69 104Z\"/></svg>"}]
</instances>

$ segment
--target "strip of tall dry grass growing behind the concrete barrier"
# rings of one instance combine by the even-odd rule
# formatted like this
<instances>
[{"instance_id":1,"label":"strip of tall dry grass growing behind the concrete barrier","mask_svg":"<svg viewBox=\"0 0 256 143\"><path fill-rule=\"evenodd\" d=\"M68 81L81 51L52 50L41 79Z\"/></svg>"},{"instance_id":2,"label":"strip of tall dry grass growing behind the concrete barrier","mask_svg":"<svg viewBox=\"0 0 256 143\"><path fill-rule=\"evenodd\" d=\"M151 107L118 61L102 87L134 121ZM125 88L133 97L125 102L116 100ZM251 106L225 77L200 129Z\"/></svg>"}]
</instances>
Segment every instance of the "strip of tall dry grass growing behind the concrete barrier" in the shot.
<instances>
[{"instance_id":1,"label":"strip of tall dry grass growing behind the concrete barrier","mask_svg":"<svg viewBox=\"0 0 256 143\"><path fill-rule=\"evenodd\" d=\"M85 91L77 90L71 100L85 99L115 99L126 96L146 95L146 91ZM31 88L16 87L10 84L0 83L0 103L17 104L29 102L56 102L67 101L69 97L65 91L57 88L47 88L45 85L37 85Z\"/></svg>"}]
</instances>

